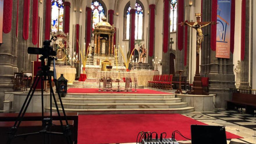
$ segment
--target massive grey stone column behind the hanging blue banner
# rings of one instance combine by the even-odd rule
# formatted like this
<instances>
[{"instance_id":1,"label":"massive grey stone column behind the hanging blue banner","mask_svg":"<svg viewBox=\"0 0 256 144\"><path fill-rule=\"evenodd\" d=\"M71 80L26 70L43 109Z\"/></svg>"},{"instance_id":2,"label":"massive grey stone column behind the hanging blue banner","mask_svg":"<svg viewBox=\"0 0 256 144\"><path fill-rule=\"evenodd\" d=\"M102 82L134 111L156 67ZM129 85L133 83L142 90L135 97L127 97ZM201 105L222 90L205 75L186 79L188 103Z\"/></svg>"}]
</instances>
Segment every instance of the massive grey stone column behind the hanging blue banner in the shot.
<instances>
[{"instance_id":1,"label":"massive grey stone column behind the hanging blue banner","mask_svg":"<svg viewBox=\"0 0 256 144\"><path fill-rule=\"evenodd\" d=\"M211 21L211 1L202 3L202 21ZM235 88L233 72L233 54L230 52L230 59L216 58L216 51L210 46L211 26L202 29L206 35L202 42L200 76L209 77L209 93L216 94L217 108L225 108L225 100L230 100Z\"/></svg>"}]
</instances>

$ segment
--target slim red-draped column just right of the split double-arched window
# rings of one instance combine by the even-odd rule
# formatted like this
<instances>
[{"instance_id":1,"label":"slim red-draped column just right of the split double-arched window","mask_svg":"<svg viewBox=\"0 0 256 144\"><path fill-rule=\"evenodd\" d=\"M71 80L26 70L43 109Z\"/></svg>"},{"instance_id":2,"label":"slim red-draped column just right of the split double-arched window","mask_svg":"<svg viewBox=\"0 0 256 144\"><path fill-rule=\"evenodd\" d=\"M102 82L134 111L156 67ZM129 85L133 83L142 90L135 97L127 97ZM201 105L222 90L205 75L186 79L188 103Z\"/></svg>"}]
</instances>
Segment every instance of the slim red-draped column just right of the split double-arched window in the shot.
<instances>
[{"instance_id":1,"label":"slim red-draped column just right of the split double-arched window","mask_svg":"<svg viewBox=\"0 0 256 144\"><path fill-rule=\"evenodd\" d=\"M149 24L148 24L148 48L147 48L147 61L151 65L152 59L155 56L155 10L156 5L154 0L149 1ZM152 67L154 69L154 67Z\"/></svg>"}]
</instances>

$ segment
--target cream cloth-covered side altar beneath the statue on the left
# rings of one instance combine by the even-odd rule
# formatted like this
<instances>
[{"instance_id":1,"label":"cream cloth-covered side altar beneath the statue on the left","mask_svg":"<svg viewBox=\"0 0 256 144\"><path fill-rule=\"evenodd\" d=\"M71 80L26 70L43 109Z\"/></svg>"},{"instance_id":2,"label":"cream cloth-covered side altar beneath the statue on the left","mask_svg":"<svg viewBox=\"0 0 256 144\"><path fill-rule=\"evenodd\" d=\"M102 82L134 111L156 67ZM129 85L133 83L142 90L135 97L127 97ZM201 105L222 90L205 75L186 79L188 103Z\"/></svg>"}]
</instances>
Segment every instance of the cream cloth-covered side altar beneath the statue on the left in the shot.
<instances>
[{"instance_id":1,"label":"cream cloth-covered side altar beneath the statue on the left","mask_svg":"<svg viewBox=\"0 0 256 144\"><path fill-rule=\"evenodd\" d=\"M77 70L69 65L56 65L56 78L61 77L61 74L68 80L68 83L73 83L76 78ZM53 67L50 68L53 70Z\"/></svg>"}]
</instances>

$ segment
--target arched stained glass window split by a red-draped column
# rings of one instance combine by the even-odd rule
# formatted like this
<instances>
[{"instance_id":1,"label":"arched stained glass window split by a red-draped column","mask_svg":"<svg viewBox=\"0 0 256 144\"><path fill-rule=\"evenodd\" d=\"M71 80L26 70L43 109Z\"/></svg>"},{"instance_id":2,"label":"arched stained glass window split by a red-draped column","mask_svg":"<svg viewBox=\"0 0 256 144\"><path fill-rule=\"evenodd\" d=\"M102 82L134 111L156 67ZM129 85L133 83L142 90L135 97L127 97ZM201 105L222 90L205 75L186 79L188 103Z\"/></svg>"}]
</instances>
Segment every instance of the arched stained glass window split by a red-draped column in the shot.
<instances>
[{"instance_id":1,"label":"arched stained glass window split by a red-draped column","mask_svg":"<svg viewBox=\"0 0 256 144\"><path fill-rule=\"evenodd\" d=\"M142 39L143 33L143 8L141 4L135 4L135 40ZM126 9L126 31L125 31L125 39L129 39L129 29L130 29L130 10L131 6L127 7Z\"/></svg>"}]
</instances>

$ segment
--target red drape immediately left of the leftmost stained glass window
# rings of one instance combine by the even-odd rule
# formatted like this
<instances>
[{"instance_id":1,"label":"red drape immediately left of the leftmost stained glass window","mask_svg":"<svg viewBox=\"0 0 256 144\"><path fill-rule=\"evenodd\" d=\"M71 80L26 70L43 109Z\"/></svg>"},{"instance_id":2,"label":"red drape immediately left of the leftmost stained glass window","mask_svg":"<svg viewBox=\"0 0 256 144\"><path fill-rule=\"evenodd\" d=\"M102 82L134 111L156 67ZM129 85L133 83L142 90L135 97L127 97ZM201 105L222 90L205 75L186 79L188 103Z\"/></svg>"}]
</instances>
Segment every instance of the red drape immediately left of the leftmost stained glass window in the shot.
<instances>
[{"instance_id":1,"label":"red drape immediately left of the leftmost stained glass window","mask_svg":"<svg viewBox=\"0 0 256 144\"><path fill-rule=\"evenodd\" d=\"M46 0L45 40L50 40L50 31L51 31L51 0Z\"/></svg>"}]
</instances>

